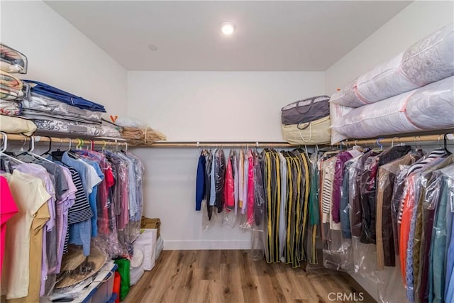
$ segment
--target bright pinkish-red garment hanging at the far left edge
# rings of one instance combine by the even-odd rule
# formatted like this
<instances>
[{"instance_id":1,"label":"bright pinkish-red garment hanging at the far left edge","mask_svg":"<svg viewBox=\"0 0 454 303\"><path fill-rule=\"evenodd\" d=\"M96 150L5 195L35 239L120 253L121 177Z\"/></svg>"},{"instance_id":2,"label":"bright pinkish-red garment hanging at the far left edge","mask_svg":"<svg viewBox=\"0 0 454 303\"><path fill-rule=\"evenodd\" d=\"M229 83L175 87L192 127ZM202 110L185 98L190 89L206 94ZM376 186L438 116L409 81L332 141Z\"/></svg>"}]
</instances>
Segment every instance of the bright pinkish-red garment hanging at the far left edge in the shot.
<instances>
[{"instance_id":1,"label":"bright pinkish-red garment hanging at the far left edge","mask_svg":"<svg viewBox=\"0 0 454 303\"><path fill-rule=\"evenodd\" d=\"M16 202L14 202L13 196L11 195L11 191L9 190L8 182L5 177L0 176L0 277L5 251L6 221L11 219L11 217L17 212L18 208Z\"/></svg>"}]
</instances>

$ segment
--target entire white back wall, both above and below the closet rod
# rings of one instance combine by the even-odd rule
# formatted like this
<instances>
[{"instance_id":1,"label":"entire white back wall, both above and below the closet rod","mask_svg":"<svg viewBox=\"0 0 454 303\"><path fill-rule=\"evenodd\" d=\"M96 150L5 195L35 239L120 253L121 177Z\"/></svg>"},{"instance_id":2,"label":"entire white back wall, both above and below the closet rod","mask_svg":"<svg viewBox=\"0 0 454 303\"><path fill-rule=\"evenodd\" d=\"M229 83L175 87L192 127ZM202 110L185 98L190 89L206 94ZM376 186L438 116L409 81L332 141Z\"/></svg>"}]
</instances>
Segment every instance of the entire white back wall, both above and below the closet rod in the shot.
<instances>
[{"instance_id":1,"label":"entire white back wall, both above and below the closet rod","mask_svg":"<svg viewBox=\"0 0 454 303\"><path fill-rule=\"evenodd\" d=\"M323 72L128 72L128 114L170 141L282 141L281 107L323 93ZM134 153L147 170L144 213L160 217L165 249L250 248L239 228L202 231L197 148Z\"/></svg>"}]
</instances>

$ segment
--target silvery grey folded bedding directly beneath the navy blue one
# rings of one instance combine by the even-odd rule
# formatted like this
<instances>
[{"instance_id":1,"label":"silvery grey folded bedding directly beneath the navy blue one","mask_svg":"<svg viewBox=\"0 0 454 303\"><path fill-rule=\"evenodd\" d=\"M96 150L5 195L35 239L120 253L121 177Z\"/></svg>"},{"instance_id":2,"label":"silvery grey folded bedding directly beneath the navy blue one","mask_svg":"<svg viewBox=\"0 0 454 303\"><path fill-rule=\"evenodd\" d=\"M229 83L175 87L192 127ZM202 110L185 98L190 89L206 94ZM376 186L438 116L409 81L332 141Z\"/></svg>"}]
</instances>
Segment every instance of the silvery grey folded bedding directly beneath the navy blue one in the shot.
<instances>
[{"instance_id":1,"label":"silvery grey folded bedding directly beneath the navy blue one","mask_svg":"<svg viewBox=\"0 0 454 303\"><path fill-rule=\"evenodd\" d=\"M99 111L79 109L79 107L35 93L32 93L31 97L23 99L22 106L24 116L27 116L27 114L43 114L51 118L65 117L87 123L101 123L102 121ZM30 116L30 118L33 117Z\"/></svg>"}]
</instances>

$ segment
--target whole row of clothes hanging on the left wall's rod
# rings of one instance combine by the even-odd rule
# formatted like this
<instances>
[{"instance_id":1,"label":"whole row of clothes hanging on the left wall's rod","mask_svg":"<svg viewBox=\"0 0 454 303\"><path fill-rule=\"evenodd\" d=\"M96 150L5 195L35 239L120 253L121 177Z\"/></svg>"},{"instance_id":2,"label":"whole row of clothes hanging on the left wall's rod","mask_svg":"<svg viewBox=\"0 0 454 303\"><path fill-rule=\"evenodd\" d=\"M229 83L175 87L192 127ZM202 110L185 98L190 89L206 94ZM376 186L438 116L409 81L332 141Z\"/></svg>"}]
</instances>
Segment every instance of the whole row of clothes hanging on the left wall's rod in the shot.
<instances>
[{"instance_id":1,"label":"whole row of clothes hanging on the left wall's rod","mask_svg":"<svg viewBox=\"0 0 454 303\"><path fill-rule=\"evenodd\" d=\"M8 171L1 174L1 247L9 248L2 253L9 262L3 264L1 281L9 302L39 302L50 294L69 243L81 246L87 256L92 245L111 258L131 255L143 207L143 165L131 153L104 153L57 151L49 160L28 152L19 155L21 160L1 156L1 167ZM117 174L111 160L124 174ZM119 226L116 216L125 214ZM90 263L85 266L90 270Z\"/></svg>"}]
</instances>

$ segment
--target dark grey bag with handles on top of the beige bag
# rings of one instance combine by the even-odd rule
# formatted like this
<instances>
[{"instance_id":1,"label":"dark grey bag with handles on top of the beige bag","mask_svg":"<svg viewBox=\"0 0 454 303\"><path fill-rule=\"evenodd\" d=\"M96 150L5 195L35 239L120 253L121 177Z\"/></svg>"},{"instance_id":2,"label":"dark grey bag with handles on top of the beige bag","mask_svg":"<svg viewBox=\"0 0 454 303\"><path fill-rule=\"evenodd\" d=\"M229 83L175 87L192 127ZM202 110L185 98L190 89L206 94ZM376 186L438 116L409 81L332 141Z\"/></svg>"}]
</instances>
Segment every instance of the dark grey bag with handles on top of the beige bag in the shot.
<instances>
[{"instance_id":1,"label":"dark grey bag with handles on top of the beige bag","mask_svg":"<svg viewBox=\"0 0 454 303\"><path fill-rule=\"evenodd\" d=\"M282 124L298 124L329 116L329 97L317 96L288 104L281 109Z\"/></svg>"}]
</instances>

